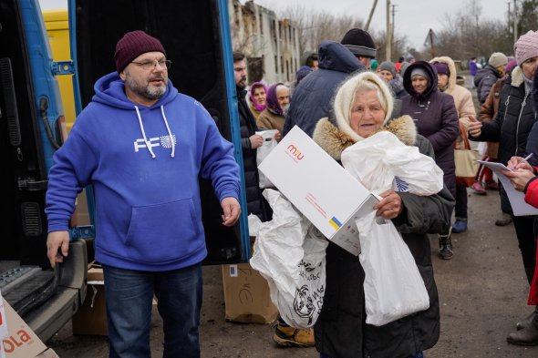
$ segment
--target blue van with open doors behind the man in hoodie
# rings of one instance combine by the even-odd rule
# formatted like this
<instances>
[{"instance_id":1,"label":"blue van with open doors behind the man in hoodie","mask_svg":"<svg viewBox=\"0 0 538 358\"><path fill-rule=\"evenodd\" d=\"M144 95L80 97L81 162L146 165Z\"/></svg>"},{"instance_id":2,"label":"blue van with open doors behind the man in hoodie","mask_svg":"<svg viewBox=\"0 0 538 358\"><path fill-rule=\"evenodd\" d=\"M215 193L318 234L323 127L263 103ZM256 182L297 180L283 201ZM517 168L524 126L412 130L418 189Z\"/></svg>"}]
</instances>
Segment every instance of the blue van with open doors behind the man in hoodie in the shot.
<instances>
[{"instance_id":1,"label":"blue van with open doors behind the man in hoodie","mask_svg":"<svg viewBox=\"0 0 538 358\"><path fill-rule=\"evenodd\" d=\"M96 80L115 69L119 38L144 30L160 38L173 61L172 83L208 109L222 135L236 144L242 165L227 6L225 0L69 0L73 61L55 63L38 0L0 0L0 145L7 167L0 194L0 292L43 341L84 302L98 230L88 188L90 225L71 229L67 260L50 269L44 213L47 173L66 138L56 76L73 76L79 113L93 96ZM222 226L211 183L201 179L200 187L209 252L204 263L247 261L245 210L235 227Z\"/></svg>"}]
</instances>

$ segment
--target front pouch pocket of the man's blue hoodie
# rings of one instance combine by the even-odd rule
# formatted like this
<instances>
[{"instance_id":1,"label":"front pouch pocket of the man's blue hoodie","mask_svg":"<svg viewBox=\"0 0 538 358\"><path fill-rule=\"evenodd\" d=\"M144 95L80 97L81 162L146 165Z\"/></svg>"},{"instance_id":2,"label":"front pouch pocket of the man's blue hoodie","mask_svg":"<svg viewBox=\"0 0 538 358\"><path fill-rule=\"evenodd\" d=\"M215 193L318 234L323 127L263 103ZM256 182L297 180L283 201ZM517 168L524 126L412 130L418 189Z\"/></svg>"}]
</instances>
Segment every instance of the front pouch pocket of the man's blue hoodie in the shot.
<instances>
[{"instance_id":1,"label":"front pouch pocket of the man's blue hoodie","mask_svg":"<svg viewBox=\"0 0 538 358\"><path fill-rule=\"evenodd\" d=\"M192 199L133 207L125 238L129 259L166 262L187 257L202 245Z\"/></svg>"}]
</instances>

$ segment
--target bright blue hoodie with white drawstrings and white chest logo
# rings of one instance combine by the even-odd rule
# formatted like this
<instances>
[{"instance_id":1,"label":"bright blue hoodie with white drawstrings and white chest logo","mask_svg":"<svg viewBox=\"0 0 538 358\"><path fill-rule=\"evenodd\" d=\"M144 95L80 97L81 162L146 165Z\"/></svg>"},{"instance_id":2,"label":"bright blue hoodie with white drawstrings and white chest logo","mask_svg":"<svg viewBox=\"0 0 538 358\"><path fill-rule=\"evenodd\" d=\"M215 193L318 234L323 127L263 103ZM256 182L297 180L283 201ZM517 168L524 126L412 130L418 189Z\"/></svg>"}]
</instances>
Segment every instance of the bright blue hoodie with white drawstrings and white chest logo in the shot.
<instances>
[{"instance_id":1,"label":"bright blue hoodie with white drawstrings and white chest logo","mask_svg":"<svg viewBox=\"0 0 538 358\"><path fill-rule=\"evenodd\" d=\"M88 184L96 196L96 259L130 270L169 271L207 255L199 175L219 200L239 199L233 145L212 117L169 80L151 107L125 95L116 72L54 156L47 190L48 232L67 230L75 199Z\"/></svg>"}]
</instances>

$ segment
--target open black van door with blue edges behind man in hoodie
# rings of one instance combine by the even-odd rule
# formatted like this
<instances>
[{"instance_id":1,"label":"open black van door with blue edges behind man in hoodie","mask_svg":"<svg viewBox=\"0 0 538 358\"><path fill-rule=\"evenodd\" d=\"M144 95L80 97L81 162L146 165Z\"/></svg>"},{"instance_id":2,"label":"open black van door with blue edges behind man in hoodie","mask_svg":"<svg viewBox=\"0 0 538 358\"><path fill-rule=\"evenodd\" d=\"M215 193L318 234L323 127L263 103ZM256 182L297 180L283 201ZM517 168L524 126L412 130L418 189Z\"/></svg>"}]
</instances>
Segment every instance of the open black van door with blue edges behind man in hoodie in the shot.
<instances>
[{"instance_id":1,"label":"open black van door with blue edges behind man in hoodie","mask_svg":"<svg viewBox=\"0 0 538 358\"><path fill-rule=\"evenodd\" d=\"M68 11L77 113L90 102L98 78L116 70L118 40L129 31L143 30L160 39L173 63L172 83L209 111L222 136L233 142L243 168L226 0L69 0ZM233 228L222 225L211 182L201 179L200 191L208 249L204 263L247 261L251 251L244 188L242 216ZM92 210L91 190L88 194ZM89 216L95 223L91 212Z\"/></svg>"}]
</instances>

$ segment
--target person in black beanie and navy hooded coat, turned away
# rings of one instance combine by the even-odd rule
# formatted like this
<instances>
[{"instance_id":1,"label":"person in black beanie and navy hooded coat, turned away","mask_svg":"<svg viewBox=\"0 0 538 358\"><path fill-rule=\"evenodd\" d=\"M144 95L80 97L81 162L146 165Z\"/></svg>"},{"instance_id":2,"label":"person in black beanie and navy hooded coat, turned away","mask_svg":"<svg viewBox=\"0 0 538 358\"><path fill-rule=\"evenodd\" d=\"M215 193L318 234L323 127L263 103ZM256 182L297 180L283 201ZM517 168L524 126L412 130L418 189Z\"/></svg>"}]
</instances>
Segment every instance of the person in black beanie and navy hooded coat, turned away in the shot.
<instances>
[{"instance_id":1,"label":"person in black beanie and navy hooded coat, turned away","mask_svg":"<svg viewBox=\"0 0 538 358\"><path fill-rule=\"evenodd\" d=\"M305 77L294 90L285 117L284 136L296 125L312 137L317 121L329 115L336 87L349 74L370 67L376 46L366 31L353 28L347 31L341 44L323 41L317 54L319 69Z\"/></svg>"}]
</instances>

